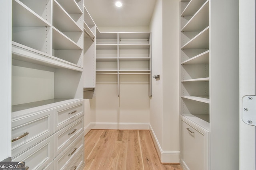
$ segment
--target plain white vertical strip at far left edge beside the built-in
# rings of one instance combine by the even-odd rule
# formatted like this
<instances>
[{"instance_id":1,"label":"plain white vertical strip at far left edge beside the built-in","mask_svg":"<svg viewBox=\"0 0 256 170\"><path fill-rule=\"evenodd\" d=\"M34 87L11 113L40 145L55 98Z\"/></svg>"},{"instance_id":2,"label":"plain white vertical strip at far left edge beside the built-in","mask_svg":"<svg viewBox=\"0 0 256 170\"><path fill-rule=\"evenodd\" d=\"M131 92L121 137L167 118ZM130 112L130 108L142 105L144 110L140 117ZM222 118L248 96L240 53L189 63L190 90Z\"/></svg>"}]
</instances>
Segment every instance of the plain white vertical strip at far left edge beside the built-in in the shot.
<instances>
[{"instance_id":1,"label":"plain white vertical strip at far left edge beside the built-in","mask_svg":"<svg viewBox=\"0 0 256 170\"><path fill-rule=\"evenodd\" d=\"M11 157L12 1L0 1L0 161Z\"/></svg>"}]
</instances>

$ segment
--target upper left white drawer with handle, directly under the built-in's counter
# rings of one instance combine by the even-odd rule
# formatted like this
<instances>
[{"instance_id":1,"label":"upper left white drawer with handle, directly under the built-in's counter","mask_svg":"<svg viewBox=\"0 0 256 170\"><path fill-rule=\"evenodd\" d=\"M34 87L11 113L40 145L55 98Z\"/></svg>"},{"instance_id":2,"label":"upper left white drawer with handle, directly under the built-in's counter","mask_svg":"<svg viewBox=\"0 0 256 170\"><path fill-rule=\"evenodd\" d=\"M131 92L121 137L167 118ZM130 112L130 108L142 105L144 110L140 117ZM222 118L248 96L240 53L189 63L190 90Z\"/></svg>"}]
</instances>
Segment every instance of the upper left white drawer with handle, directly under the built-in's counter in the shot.
<instances>
[{"instance_id":1,"label":"upper left white drawer with handle, directly under the built-in's counter","mask_svg":"<svg viewBox=\"0 0 256 170\"><path fill-rule=\"evenodd\" d=\"M12 140L24 136L12 142L12 157L52 135L53 118L53 110L48 110L12 120Z\"/></svg>"}]
</instances>

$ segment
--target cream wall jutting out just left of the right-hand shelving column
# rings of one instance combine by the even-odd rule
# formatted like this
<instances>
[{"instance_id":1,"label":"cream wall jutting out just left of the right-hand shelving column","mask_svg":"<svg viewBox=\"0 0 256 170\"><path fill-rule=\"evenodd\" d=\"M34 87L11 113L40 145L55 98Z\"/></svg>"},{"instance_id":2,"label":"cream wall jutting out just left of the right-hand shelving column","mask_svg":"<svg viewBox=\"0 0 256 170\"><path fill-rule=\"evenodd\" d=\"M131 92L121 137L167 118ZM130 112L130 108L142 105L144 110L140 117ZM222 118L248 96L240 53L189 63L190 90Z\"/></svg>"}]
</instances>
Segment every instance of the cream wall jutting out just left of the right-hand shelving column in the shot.
<instances>
[{"instance_id":1,"label":"cream wall jutting out just left of the right-hand shelving column","mask_svg":"<svg viewBox=\"0 0 256 170\"><path fill-rule=\"evenodd\" d=\"M158 0L152 31L150 125L162 162L179 162L179 0Z\"/></svg>"}]
</instances>

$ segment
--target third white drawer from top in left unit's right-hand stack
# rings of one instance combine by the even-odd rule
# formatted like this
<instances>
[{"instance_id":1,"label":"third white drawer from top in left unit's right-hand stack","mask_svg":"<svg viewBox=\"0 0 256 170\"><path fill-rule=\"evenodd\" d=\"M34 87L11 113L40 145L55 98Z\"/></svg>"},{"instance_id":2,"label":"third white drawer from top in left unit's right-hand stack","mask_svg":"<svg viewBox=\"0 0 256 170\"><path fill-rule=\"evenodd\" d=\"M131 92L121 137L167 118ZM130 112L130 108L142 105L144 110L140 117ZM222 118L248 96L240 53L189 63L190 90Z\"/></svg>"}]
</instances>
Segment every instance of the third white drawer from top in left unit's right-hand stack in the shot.
<instances>
[{"instance_id":1,"label":"third white drawer from top in left unit's right-hand stack","mask_svg":"<svg viewBox=\"0 0 256 170\"><path fill-rule=\"evenodd\" d=\"M71 143L63 152L54 159L54 170L66 169L72 164L73 158L84 149L84 134L81 134L74 142Z\"/></svg>"}]
</instances>

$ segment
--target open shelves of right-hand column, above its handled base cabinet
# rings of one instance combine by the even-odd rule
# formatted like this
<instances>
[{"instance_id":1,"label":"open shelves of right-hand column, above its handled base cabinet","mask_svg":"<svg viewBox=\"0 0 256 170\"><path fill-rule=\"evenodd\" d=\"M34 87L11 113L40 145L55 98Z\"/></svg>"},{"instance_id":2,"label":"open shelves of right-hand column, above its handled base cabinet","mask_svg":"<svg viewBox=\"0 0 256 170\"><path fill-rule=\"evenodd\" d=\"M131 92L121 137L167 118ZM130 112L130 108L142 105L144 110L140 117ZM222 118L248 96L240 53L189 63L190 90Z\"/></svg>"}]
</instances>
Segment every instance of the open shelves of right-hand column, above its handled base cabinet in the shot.
<instances>
[{"instance_id":1,"label":"open shelves of right-hand column, above its handled base cabinet","mask_svg":"<svg viewBox=\"0 0 256 170\"><path fill-rule=\"evenodd\" d=\"M180 28L181 112L209 115L209 1L182 1Z\"/></svg>"}]
</instances>

